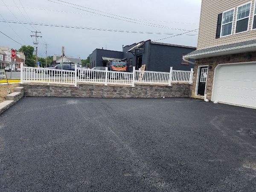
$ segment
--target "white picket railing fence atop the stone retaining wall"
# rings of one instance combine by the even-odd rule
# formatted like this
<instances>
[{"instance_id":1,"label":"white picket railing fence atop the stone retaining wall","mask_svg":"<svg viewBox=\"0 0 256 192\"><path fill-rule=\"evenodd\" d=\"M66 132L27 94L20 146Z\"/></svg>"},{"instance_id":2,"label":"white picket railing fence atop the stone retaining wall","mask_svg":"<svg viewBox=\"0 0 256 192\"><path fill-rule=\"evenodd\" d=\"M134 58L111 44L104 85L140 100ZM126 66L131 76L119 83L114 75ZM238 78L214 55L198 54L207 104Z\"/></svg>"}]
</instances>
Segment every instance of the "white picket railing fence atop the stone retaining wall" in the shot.
<instances>
[{"instance_id":1,"label":"white picket railing fence atop the stone retaining wall","mask_svg":"<svg viewBox=\"0 0 256 192\"><path fill-rule=\"evenodd\" d=\"M193 82L193 69L191 71L172 70L170 72L154 72L135 70L133 72L119 72L105 70L91 70L77 68L75 70L59 70L38 67L20 68L20 82L40 82L47 84L73 84L77 86L77 82L101 83L101 84L120 84L131 85L135 83L143 84L166 84L171 86L172 82Z\"/></svg>"}]
</instances>

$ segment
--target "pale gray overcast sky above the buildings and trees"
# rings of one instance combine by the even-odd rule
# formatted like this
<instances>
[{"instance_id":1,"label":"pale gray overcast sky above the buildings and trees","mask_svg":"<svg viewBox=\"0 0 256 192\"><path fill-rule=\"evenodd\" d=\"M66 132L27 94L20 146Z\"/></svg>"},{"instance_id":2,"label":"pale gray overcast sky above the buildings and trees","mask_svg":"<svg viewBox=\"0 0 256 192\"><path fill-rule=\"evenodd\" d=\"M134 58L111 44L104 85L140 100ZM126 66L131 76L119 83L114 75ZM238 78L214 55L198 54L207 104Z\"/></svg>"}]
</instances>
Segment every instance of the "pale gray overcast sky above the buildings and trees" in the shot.
<instances>
[{"instance_id":1,"label":"pale gray overcast sky above the buildings and trees","mask_svg":"<svg viewBox=\"0 0 256 192\"><path fill-rule=\"evenodd\" d=\"M0 32L19 43L0 33L0 46L34 46L30 35L37 30L43 36L38 57L45 57L46 43L47 55L61 54L64 46L65 55L82 59L96 48L122 51L148 39L196 47L200 9L201 0L0 0Z\"/></svg>"}]
</instances>

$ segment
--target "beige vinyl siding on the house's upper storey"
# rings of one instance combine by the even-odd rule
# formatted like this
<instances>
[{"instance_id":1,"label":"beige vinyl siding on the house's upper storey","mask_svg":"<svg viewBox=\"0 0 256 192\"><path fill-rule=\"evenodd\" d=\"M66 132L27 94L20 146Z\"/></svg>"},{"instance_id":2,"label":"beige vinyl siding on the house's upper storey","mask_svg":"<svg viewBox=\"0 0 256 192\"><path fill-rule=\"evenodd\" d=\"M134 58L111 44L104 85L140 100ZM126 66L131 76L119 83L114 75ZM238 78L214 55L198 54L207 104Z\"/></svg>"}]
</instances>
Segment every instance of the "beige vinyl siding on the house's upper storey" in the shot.
<instances>
[{"instance_id":1,"label":"beige vinyl siding on the house's upper storey","mask_svg":"<svg viewBox=\"0 0 256 192\"><path fill-rule=\"evenodd\" d=\"M249 31L235 34L237 7L244 3L252 3L250 10ZM256 30L251 31L255 0L202 0L198 49L232 44L239 41L256 39ZM235 8L232 35L216 39L218 14Z\"/></svg>"}]
</instances>

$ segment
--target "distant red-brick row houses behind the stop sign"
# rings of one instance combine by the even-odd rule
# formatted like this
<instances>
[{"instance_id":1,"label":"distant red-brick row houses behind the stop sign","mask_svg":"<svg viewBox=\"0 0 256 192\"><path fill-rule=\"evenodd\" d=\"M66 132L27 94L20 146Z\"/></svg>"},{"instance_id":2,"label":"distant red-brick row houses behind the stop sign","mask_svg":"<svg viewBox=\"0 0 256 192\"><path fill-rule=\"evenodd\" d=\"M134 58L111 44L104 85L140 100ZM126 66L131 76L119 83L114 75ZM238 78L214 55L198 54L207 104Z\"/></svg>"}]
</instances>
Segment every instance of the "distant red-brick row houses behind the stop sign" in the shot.
<instances>
[{"instance_id":1,"label":"distant red-brick row houses behind the stop sign","mask_svg":"<svg viewBox=\"0 0 256 192\"><path fill-rule=\"evenodd\" d=\"M22 52L16 52L16 56L14 58L11 57L12 49L8 47L0 47L0 67L4 69L5 67L10 67L11 64L14 65L15 68L20 68L20 65L25 66L25 55Z\"/></svg>"}]
</instances>

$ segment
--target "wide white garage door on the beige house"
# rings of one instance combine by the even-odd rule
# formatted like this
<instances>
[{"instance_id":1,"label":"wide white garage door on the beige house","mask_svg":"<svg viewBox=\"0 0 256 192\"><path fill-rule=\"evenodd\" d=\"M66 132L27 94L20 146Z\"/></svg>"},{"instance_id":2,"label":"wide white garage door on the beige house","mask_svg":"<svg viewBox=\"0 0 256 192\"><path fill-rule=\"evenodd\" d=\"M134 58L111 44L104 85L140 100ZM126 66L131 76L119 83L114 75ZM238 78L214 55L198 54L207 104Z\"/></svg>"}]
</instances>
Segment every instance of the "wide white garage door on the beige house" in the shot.
<instances>
[{"instance_id":1,"label":"wide white garage door on the beige house","mask_svg":"<svg viewBox=\"0 0 256 192\"><path fill-rule=\"evenodd\" d=\"M212 101L256 108L256 63L219 65Z\"/></svg>"}]
</instances>

